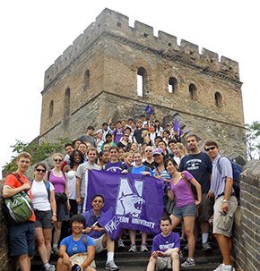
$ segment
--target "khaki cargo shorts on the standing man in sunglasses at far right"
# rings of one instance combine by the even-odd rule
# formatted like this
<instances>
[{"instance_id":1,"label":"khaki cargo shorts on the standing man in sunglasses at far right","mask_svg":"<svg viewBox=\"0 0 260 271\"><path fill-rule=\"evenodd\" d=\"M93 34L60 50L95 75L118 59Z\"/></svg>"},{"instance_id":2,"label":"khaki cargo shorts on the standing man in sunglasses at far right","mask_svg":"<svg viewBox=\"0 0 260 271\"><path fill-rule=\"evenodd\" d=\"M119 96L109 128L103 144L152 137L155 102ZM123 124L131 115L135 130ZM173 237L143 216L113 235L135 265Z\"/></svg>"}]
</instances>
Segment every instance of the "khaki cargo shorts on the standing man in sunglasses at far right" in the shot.
<instances>
[{"instance_id":1,"label":"khaki cargo shorts on the standing man in sunglasses at far right","mask_svg":"<svg viewBox=\"0 0 260 271\"><path fill-rule=\"evenodd\" d=\"M221 213L224 196L216 199L214 204L214 219L213 219L213 233L224 235L228 238L232 236L232 226L234 222L234 214L238 207L238 200L235 196L230 196L229 211L226 216Z\"/></svg>"}]
</instances>

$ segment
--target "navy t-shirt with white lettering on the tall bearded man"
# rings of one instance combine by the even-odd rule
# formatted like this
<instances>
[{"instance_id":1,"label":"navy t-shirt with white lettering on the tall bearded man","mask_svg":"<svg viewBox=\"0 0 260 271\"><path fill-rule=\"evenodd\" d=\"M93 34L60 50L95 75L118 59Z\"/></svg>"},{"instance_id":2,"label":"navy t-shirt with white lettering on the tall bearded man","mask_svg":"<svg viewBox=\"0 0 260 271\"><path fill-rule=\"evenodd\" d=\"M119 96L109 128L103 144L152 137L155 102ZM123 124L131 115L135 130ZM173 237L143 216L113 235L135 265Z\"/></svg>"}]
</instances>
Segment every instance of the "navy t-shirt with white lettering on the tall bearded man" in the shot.
<instances>
[{"instance_id":1,"label":"navy t-shirt with white lettering on the tall bearded man","mask_svg":"<svg viewBox=\"0 0 260 271\"><path fill-rule=\"evenodd\" d=\"M206 194L210 190L212 160L206 153L200 152L197 155L182 157L178 165L178 172L183 172L184 170L192 174L195 180L201 184L203 194ZM195 195L197 194L194 185L192 185L192 191Z\"/></svg>"}]
</instances>

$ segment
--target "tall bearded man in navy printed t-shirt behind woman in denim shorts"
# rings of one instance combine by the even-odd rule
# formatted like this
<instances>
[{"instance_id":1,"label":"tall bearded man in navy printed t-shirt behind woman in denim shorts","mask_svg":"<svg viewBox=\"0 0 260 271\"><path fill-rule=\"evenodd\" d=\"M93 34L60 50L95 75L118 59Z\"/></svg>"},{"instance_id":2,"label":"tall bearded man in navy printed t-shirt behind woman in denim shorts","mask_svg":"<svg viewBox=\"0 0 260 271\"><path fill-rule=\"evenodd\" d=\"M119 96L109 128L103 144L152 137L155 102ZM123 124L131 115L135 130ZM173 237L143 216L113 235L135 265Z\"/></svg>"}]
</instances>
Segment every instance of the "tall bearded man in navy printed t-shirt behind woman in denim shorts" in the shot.
<instances>
[{"instance_id":1,"label":"tall bearded man in navy printed t-shirt behind woman in denim shorts","mask_svg":"<svg viewBox=\"0 0 260 271\"><path fill-rule=\"evenodd\" d=\"M212 174L212 161L206 153L199 150L199 138L195 134L190 134L186 137L187 148L190 153L187 156L182 157L180 164L178 165L178 171L183 172L186 170L195 177L202 186L202 202L199 206L199 216L196 219L195 224L195 238L199 240L199 230L202 232L202 250L212 250L209 237L209 223L208 220L213 213L213 201L208 199L207 195L211 186L211 174ZM192 190L197 197L195 187L192 186ZM197 199L197 198L196 198ZM188 247L185 247L188 250Z\"/></svg>"}]
</instances>

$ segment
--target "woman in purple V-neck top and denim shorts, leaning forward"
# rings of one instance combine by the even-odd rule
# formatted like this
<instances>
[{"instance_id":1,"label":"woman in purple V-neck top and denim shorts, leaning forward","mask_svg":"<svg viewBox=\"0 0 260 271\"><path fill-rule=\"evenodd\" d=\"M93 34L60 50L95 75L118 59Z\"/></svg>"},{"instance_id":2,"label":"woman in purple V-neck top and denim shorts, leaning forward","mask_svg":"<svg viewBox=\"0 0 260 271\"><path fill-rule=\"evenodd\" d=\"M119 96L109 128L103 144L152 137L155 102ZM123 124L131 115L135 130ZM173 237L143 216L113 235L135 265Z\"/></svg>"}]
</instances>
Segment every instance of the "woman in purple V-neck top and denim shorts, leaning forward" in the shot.
<instances>
[{"instance_id":1,"label":"woman in purple V-neck top and denim shorts, leaning forward","mask_svg":"<svg viewBox=\"0 0 260 271\"><path fill-rule=\"evenodd\" d=\"M165 168L171 174L169 182L170 190L176 197L176 207L170 215L172 222L172 229L174 229L183 219L186 238L188 241L188 258L181 264L181 267L195 266L194 251L195 251L195 217L197 215L197 206L202 200L202 189L199 182L195 180L192 174L187 171L179 173L177 171L177 163L173 158L165 161ZM195 200L191 191L191 184L195 186L198 200Z\"/></svg>"}]
</instances>

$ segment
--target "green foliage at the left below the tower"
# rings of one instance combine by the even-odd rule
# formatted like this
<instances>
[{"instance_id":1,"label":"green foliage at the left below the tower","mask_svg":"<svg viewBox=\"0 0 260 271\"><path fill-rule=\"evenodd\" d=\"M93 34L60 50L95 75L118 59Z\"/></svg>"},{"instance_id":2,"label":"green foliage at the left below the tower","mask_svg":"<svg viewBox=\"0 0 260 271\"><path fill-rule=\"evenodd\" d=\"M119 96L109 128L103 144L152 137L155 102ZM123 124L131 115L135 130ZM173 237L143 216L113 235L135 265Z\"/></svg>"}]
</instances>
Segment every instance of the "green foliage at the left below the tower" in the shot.
<instances>
[{"instance_id":1,"label":"green foliage at the left below the tower","mask_svg":"<svg viewBox=\"0 0 260 271\"><path fill-rule=\"evenodd\" d=\"M34 165L40 161L45 160L53 152L60 152L64 149L66 143L70 143L68 139L58 138L56 143L40 142L40 144L35 143L24 143L21 140L16 140L16 143L10 148L13 148L13 153L15 156L11 157L11 162L6 163L3 168L6 170L6 174L9 174L16 170L16 157L22 151L27 151L31 155L31 165Z\"/></svg>"}]
</instances>

